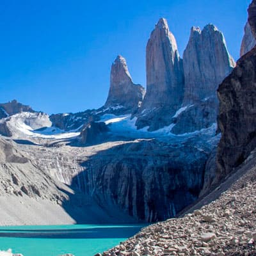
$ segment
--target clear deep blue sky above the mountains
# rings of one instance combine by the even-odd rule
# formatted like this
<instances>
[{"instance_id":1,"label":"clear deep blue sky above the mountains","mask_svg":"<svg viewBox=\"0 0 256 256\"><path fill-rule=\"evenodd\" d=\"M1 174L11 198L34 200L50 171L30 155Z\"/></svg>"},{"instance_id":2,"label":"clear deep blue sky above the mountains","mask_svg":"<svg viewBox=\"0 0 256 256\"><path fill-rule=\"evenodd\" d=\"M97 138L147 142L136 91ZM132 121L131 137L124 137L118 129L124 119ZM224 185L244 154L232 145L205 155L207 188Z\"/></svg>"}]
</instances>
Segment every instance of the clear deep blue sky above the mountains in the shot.
<instances>
[{"instance_id":1,"label":"clear deep blue sky above the mountains","mask_svg":"<svg viewBox=\"0 0 256 256\"><path fill-rule=\"evenodd\" d=\"M180 55L191 26L223 31L237 60L250 0L1 0L0 102L64 113L99 108L122 54L145 86L145 47L160 17Z\"/></svg>"}]
</instances>

